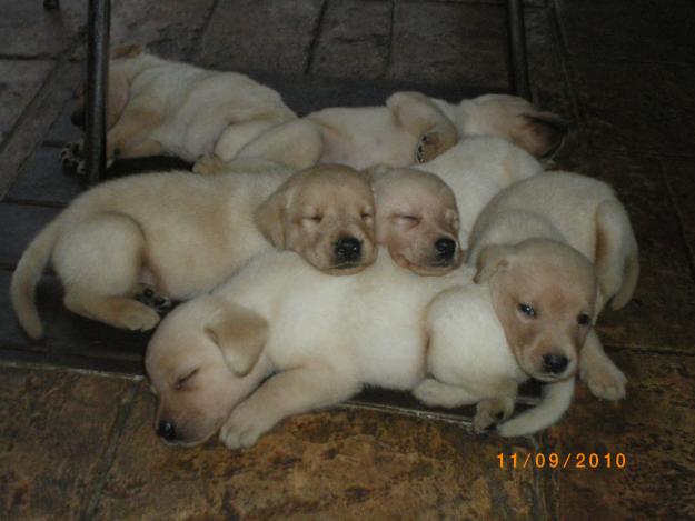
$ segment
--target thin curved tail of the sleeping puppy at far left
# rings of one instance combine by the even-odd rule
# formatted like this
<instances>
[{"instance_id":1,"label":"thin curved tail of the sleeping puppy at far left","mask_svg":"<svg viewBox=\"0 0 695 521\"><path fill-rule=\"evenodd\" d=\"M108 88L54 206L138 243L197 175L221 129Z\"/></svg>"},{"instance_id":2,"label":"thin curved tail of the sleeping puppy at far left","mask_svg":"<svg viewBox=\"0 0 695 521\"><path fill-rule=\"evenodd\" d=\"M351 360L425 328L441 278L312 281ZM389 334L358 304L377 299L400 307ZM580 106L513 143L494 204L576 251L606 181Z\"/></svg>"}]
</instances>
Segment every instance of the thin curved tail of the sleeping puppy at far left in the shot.
<instances>
[{"instance_id":1,"label":"thin curved tail of the sleeping puppy at far left","mask_svg":"<svg viewBox=\"0 0 695 521\"><path fill-rule=\"evenodd\" d=\"M58 221L53 220L31 241L12 273L10 284L12 308L19 323L32 339L39 339L43 334L36 304L36 290L53 250L57 234Z\"/></svg>"}]
</instances>

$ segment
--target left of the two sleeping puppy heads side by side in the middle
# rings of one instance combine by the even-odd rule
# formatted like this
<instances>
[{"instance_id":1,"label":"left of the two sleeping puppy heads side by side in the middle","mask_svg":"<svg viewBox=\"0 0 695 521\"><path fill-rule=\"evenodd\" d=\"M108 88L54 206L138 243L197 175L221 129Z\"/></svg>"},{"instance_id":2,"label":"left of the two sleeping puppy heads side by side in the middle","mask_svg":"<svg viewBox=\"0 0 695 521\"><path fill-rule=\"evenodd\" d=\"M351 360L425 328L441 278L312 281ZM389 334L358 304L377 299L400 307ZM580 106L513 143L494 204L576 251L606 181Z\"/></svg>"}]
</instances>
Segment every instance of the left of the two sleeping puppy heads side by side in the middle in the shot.
<instances>
[{"instance_id":1,"label":"left of the two sleeping puppy heads side by side in the middle","mask_svg":"<svg viewBox=\"0 0 695 521\"><path fill-rule=\"evenodd\" d=\"M294 250L327 273L357 273L376 259L369 177L348 167L319 164L296 173L255 219L276 248Z\"/></svg>"}]
</instances>

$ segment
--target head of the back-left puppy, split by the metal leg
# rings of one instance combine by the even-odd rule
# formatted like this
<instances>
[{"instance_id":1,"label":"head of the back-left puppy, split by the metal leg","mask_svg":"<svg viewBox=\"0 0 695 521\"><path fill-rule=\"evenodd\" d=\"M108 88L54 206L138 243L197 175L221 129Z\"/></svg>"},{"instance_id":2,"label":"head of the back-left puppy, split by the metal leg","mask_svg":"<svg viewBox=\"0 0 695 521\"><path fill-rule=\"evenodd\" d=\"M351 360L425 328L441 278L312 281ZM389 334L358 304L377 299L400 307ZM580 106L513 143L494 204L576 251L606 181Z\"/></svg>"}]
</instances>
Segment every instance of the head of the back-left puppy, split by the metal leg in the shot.
<instances>
[{"instance_id":1,"label":"head of the back-left puppy, split by the metal leg","mask_svg":"<svg viewBox=\"0 0 695 521\"><path fill-rule=\"evenodd\" d=\"M130 43L126 46L116 47L111 51L111 61L109 62L109 83L107 96L107 129L110 129L116 124L120 118L121 112L128 103L130 81L125 69L125 60L137 58L142 54L143 48L139 43ZM85 127L85 89L80 88L77 93L77 101L72 113L70 114L70 121L76 127Z\"/></svg>"}]
</instances>

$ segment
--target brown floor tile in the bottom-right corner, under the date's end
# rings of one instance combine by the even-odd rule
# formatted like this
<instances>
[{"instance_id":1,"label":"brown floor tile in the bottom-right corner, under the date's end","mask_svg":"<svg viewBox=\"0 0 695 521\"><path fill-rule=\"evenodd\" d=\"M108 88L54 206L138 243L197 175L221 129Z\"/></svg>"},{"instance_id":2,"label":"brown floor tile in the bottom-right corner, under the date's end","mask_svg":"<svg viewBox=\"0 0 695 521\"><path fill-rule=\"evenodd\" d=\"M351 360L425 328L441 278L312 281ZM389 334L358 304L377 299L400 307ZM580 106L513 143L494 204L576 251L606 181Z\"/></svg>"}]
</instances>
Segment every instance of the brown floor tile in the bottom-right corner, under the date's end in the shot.
<instances>
[{"instance_id":1,"label":"brown floor tile in the bottom-right corner, under the date's end","mask_svg":"<svg viewBox=\"0 0 695 521\"><path fill-rule=\"evenodd\" d=\"M559 520L693 519L695 517L695 359L622 352L627 398L599 401L582 387L567 418L549 432L549 451L596 453L598 469L555 472ZM625 454L624 469L605 467ZM576 460L574 460L576 461Z\"/></svg>"}]
</instances>

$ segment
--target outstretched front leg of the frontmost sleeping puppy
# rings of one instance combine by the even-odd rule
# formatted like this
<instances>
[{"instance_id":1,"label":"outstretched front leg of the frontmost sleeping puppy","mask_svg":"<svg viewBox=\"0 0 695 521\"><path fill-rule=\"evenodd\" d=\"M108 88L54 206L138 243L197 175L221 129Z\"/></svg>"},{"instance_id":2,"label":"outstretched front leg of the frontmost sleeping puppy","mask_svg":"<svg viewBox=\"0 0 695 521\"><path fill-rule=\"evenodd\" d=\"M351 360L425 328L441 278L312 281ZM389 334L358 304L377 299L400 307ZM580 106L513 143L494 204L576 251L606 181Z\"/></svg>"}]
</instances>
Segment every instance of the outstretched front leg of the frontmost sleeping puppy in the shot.
<instances>
[{"instance_id":1,"label":"outstretched front leg of the frontmost sleeping puppy","mask_svg":"<svg viewBox=\"0 0 695 521\"><path fill-rule=\"evenodd\" d=\"M277 373L237 405L220 430L220 440L229 449L250 447L282 419L335 405L359 388L358 381L325 365Z\"/></svg>"}]
</instances>

